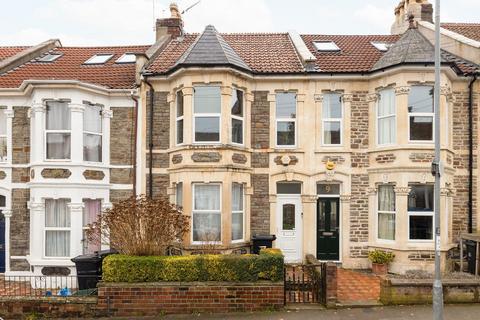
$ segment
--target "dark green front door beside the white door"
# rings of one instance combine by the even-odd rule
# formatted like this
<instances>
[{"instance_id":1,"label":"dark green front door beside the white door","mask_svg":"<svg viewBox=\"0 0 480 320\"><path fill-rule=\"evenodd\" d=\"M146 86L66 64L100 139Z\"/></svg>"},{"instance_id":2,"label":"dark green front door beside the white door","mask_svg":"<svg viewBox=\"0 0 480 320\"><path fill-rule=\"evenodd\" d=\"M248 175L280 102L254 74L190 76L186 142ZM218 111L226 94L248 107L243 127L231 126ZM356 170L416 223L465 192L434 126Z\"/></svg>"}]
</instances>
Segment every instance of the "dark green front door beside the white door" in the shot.
<instances>
[{"instance_id":1,"label":"dark green front door beside the white door","mask_svg":"<svg viewBox=\"0 0 480 320\"><path fill-rule=\"evenodd\" d=\"M340 260L340 199L317 200L317 259Z\"/></svg>"}]
</instances>

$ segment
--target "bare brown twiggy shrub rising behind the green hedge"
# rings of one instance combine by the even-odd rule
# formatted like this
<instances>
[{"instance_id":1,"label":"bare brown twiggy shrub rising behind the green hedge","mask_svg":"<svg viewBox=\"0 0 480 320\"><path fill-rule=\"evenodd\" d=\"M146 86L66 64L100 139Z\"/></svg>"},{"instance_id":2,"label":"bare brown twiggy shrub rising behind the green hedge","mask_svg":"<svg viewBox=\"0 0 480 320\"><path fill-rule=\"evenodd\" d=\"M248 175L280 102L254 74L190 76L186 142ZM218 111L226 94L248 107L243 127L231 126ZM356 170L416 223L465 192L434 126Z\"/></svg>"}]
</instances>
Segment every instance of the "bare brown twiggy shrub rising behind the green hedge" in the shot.
<instances>
[{"instance_id":1,"label":"bare brown twiggy shrub rising behind the green hedge","mask_svg":"<svg viewBox=\"0 0 480 320\"><path fill-rule=\"evenodd\" d=\"M180 247L189 230L189 217L166 199L131 197L114 204L88 225L89 241L109 243L122 254L165 255Z\"/></svg>"}]
</instances>

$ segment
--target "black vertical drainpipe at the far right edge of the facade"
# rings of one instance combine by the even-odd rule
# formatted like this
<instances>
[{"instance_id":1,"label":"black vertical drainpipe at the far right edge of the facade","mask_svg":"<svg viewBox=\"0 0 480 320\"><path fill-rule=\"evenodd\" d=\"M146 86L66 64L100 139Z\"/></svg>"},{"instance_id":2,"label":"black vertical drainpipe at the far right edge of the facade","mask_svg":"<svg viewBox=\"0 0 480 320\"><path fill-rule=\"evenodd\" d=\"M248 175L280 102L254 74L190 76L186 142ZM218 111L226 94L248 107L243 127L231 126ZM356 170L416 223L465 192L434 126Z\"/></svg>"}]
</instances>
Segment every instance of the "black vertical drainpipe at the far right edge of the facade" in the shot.
<instances>
[{"instance_id":1,"label":"black vertical drainpipe at the far right edge of the facade","mask_svg":"<svg viewBox=\"0 0 480 320\"><path fill-rule=\"evenodd\" d=\"M468 233L473 232L473 84L474 75L468 85Z\"/></svg>"}]
</instances>

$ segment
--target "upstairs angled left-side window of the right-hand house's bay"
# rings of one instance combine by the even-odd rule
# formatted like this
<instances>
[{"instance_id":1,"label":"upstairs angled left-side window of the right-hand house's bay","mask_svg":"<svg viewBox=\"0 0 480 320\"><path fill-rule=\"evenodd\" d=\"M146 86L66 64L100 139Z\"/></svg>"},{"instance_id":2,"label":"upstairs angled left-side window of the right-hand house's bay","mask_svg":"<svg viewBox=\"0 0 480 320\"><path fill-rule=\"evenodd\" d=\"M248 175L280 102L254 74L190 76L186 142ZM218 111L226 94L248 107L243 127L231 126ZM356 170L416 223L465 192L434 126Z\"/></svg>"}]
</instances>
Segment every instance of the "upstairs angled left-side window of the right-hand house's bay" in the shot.
<instances>
[{"instance_id":1,"label":"upstairs angled left-side window of the right-hand house's bay","mask_svg":"<svg viewBox=\"0 0 480 320\"><path fill-rule=\"evenodd\" d=\"M394 144L396 140L395 90L384 89L379 92L377 105L377 144Z\"/></svg>"}]
</instances>

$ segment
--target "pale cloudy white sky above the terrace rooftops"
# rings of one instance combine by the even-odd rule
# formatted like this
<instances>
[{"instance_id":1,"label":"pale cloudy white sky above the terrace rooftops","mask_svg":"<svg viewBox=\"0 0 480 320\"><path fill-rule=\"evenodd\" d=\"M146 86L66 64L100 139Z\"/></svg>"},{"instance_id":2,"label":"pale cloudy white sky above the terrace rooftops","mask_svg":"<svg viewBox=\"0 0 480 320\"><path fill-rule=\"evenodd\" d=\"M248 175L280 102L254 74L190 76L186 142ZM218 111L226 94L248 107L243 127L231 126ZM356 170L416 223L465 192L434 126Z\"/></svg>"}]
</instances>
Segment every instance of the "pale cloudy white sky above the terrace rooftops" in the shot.
<instances>
[{"instance_id":1,"label":"pale cloudy white sky above the terrace rooftops","mask_svg":"<svg viewBox=\"0 0 480 320\"><path fill-rule=\"evenodd\" d=\"M0 45L60 39L64 46L151 44L171 0L0 0ZM197 0L178 0L181 10ZM201 0L187 32L388 34L399 0ZM433 3L434 0L431 0ZM442 0L441 21L480 22L480 0Z\"/></svg>"}]
</instances>

